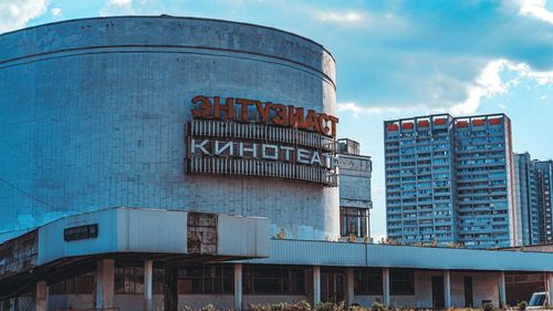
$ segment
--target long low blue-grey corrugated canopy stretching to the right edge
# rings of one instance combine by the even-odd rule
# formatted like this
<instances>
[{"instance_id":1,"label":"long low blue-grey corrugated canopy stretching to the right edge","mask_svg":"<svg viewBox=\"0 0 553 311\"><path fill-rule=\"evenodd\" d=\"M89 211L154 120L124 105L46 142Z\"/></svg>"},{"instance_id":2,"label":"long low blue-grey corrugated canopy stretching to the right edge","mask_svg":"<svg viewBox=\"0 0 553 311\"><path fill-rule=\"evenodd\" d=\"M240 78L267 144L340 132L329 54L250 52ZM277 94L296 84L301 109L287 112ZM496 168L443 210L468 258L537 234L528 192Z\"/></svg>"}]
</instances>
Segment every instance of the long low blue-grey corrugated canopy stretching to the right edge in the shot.
<instances>
[{"instance_id":1,"label":"long low blue-grey corrugated canopy stretching to the right edge","mask_svg":"<svg viewBox=\"0 0 553 311\"><path fill-rule=\"evenodd\" d=\"M271 240L271 256L242 262L415 269L553 271L553 253Z\"/></svg>"}]
</instances>

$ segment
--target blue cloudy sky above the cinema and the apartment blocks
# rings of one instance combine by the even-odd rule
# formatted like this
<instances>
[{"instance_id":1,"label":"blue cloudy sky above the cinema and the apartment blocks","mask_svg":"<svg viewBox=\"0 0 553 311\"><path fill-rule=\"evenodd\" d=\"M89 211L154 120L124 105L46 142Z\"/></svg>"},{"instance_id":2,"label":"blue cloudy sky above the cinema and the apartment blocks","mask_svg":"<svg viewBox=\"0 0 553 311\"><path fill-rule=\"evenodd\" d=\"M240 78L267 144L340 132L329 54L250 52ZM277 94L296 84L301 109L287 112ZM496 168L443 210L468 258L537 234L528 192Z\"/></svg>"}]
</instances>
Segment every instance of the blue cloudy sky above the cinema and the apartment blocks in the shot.
<instances>
[{"instance_id":1,"label":"blue cloudy sky above the cinema and the apartment blocks","mask_svg":"<svg viewBox=\"0 0 553 311\"><path fill-rule=\"evenodd\" d=\"M0 0L0 32L161 13L274 27L334 54L340 136L361 142L374 159L374 236L386 228L384 120L504 112L515 151L553 157L553 3L544 0Z\"/></svg>"}]
</instances>

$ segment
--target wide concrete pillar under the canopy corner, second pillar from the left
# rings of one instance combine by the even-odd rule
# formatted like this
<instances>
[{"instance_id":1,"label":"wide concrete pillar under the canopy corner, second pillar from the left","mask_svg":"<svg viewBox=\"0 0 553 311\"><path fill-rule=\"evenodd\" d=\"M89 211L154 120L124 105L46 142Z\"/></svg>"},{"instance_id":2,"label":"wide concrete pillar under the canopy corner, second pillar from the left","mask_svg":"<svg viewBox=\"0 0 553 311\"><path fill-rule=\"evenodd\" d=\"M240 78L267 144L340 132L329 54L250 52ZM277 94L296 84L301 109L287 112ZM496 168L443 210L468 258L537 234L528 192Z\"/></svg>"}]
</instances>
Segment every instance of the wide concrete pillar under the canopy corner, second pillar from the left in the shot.
<instances>
[{"instance_id":1,"label":"wide concrete pillar under the canopy corner, second pillar from the left","mask_svg":"<svg viewBox=\"0 0 553 311\"><path fill-rule=\"evenodd\" d=\"M100 259L96 266L96 309L113 308L115 261Z\"/></svg>"}]
</instances>

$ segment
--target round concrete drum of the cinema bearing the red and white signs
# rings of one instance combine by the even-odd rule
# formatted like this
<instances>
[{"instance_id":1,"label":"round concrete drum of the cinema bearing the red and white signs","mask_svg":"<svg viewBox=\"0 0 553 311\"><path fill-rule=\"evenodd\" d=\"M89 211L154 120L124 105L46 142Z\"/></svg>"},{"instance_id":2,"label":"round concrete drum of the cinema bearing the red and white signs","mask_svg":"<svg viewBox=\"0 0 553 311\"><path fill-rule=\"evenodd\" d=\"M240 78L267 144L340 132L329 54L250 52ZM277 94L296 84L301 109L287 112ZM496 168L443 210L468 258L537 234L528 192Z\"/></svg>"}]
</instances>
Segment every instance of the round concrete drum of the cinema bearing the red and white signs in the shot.
<instances>
[{"instance_id":1,"label":"round concrete drum of the cinema bearing the red and white signs","mask_svg":"<svg viewBox=\"0 0 553 311\"><path fill-rule=\"evenodd\" d=\"M96 18L0 35L0 231L109 207L338 232L335 62L272 28Z\"/></svg>"}]
</instances>

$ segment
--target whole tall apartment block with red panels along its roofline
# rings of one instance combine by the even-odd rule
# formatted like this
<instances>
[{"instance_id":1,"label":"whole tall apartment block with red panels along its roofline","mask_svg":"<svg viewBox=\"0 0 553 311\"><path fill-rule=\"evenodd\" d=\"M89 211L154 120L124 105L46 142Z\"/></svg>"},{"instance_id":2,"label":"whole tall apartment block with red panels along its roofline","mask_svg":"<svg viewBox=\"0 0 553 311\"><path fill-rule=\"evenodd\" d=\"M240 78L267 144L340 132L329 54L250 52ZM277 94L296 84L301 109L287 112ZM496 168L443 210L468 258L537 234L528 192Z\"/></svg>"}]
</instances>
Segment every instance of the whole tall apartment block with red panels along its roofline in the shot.
<instances>
[{"instance_id":1,"label":"whole tall apartment block with red panels along its roofline","mask_svg":"<svg viewBox=\"0 0 553 311\"><path fill-rule=\"evenodd\" d=\"M515 245L509 117L438 114L384 126L389 238Z\"/></svg>"}]
</instances>

